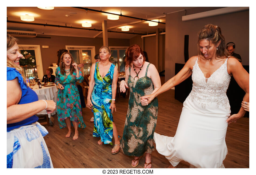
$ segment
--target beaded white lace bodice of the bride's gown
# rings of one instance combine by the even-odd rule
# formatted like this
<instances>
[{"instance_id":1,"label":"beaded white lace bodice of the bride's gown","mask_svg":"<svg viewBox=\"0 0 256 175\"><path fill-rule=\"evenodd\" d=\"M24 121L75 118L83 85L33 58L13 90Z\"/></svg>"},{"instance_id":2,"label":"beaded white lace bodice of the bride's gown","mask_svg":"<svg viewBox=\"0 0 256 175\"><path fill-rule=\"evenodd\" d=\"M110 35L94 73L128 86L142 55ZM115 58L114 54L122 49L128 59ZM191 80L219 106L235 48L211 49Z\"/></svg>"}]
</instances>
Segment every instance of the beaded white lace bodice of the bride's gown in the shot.
<instances>
[{"instance_id":1,"label":"beaded white lace bodice of the bride's gown","mask_svg":"<svg viewBox=\"0 0 256 175\"><path fill-rule=\"evenodd\" d=\"M229 99L226 95L231 79L227 72L227 59L208 79L199 68L198 58L196 59L192 70L193 87L188 99L198 101L202 108L215 103L216 107L222 106L230 111Z\"/></svg>"}]
</instances>

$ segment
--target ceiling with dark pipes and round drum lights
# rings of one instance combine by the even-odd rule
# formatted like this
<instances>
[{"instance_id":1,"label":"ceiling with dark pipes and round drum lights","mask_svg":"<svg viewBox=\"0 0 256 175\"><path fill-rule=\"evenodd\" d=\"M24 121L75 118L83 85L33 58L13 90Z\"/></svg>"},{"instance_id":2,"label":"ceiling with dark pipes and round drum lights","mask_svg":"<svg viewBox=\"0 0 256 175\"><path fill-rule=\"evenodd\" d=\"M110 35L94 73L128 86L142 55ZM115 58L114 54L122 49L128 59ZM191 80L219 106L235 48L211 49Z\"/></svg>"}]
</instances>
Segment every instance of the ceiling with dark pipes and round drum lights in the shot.
<instances>
[{"instance_id":1,"label":"ceiling with dark pipes and round drum lights","mask_svg":"<svg viewBox=\"0 0 256 175\"><path fill-rule=\"evenodd\" d=\"M159 20L165 23L165 15L177 12L180 10L189 9L192 7L83 7L89 10L79 9L75 7L54 7L53 10L43 10L37 7L7 7L7 29L9 30L23 30L33 31L37 35L56 35L56 36L72 36L72 37L102 37L102 21L107 21L108 38L123 38L130 39L135 34L155 33L156 29L165 30L165 24L158 23L158 26L148 26L149 21L140 20ZM108 13L95 12L93 10L101 10L103 12L116 13L126 16L137 17L140 19L133 19L130 17L119 16L119 20L107 19ZM16 23L24 22L20 19L20 15L34 16L33 22L25 22L29 24ZM67 17L68 16L68 17ZM82 27L82 22L92 23L92 27ZM77 27L81 29L53 27L43 25L31 25L33 23L46 25L59 25L67 27ZM130 31L123 33L122 26L127 26ZM94 30L84 30L94 29Z\"/></svg>"}]
</instances>

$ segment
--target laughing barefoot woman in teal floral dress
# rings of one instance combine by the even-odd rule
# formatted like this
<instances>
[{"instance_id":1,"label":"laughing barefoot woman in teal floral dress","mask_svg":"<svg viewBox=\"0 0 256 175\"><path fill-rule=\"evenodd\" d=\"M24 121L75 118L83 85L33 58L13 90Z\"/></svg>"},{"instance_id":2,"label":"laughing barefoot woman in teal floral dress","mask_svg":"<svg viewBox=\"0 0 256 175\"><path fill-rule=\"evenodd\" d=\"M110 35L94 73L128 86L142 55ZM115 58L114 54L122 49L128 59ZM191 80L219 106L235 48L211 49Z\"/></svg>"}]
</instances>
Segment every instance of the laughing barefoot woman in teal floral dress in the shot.
<instances>
[{"instance_id":1,"label":"laughing barefoot woman in teal floral dress","mask_svg":"<svg viewBox=\"0 0 256 175\"><path fill-rule=\"evenodd\" d=\"M60 128L68 127L66 137L71 135L71 121L75 128L73 140L78 139L78 127L85 128L81 111L81 100L76 82L84 80L82 72L69 52L61 55L60 66L56 69L55 83L59 86L57 98L57 116Z\"/></svg>"}]
</instances>

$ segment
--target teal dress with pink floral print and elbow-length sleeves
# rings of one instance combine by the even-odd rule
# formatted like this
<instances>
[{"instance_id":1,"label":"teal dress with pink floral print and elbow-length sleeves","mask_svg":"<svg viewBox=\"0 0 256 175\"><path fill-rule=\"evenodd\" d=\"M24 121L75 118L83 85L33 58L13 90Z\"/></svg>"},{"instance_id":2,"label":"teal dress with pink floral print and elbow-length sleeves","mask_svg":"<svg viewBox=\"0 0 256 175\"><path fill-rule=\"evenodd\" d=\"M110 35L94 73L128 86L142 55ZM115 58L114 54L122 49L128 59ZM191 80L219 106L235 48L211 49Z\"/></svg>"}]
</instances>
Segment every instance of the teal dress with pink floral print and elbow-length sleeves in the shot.
<instances>
[{"instance_id":1,"label":"teal dress with pink floral print and elbow-length sleeves","mask_svg":"<svg viewBox=\"0 0 256 175\"><path fill-rule=\"evenodd\" d=\"M65 120L68 117L71 121L77 122L79 128L85 128L81 100L76 85L76 82L81 83L84 80L82 72L79 69L79 77L77 77L76 71L69 75L63 75L60 72L60 67L58 67L55 74L55 83L57 85L60 83L64 87L63 90L58 90L57 96L57 117L60 128L67 126Z\"/></svg>"}]
</instances>

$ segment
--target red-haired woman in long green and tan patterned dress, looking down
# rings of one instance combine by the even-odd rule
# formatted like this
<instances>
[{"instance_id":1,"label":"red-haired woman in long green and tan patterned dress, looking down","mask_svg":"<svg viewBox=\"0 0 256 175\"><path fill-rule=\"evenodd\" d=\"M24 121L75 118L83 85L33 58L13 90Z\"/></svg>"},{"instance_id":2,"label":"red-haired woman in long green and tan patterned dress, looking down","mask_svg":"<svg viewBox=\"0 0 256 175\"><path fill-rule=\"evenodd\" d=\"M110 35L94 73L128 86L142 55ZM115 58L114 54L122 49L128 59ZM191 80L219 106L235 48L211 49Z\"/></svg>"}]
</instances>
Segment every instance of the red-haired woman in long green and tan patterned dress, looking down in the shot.
<instances>
[{"instance_id":1,"label":"red-haired woman in long green and tan patterned dress, looking down","mask_svg":"<svg viewBox=\"0 0 256 175\"><path fill-rule=\"evenodd\" d=\"M144 168L151 168L158 100L155 98L147 104L148 100L141 97L161 87L160 76L155 66L145 61L144 53L137 44L127 49L125 62L125 80L120 82L120 91L130 88L130 97L121 149L125 155L134 156L132 167L136 167L146 153Z\"/></svg>"}]
</instances>

